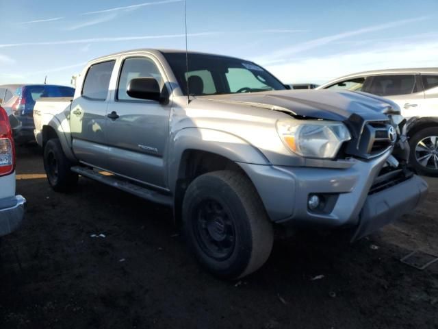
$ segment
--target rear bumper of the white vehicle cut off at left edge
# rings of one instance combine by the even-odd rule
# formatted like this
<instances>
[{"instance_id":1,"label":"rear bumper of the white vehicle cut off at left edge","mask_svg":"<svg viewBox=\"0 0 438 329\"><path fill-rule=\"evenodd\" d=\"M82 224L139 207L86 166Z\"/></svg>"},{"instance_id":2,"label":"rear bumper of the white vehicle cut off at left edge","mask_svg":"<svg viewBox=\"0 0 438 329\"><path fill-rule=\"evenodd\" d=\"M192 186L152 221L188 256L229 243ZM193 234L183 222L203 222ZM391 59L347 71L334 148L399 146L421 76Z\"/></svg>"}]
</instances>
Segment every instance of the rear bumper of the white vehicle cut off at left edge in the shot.
<instances>
[{"instance_id":1,"label":"rear bumper of the white vehicle cut off at left edge","mask_svg":"<svg viewBox=\"0 0 438 329\"><path fill-rule=\"evenodd\" d=\"M0 236L14 232L25 213L26 199L21 195L0 199Z\"/></svg>"}]
</instances>

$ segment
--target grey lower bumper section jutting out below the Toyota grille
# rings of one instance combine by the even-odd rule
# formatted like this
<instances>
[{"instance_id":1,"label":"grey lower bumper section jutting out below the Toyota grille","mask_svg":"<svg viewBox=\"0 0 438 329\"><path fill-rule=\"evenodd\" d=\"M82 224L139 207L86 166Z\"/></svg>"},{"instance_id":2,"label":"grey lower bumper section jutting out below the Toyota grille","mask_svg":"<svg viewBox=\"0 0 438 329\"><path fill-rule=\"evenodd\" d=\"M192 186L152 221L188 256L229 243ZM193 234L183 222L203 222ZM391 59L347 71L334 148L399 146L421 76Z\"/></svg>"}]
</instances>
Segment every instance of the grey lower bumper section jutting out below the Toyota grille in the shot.
<instances>
[{"instance_id":1,"label":"grey lower bumper section jutting out below the Toyota grille","mask_svg":"<svg viewBox=\"0 0 438 329\"><path fill-rule=\"evenodd\" d=\"M415 209L424 199L427 188L427 183L422 178L413 175L409 180L368 196L351 242L375 232Z\"/></svg>"}]
</instances>

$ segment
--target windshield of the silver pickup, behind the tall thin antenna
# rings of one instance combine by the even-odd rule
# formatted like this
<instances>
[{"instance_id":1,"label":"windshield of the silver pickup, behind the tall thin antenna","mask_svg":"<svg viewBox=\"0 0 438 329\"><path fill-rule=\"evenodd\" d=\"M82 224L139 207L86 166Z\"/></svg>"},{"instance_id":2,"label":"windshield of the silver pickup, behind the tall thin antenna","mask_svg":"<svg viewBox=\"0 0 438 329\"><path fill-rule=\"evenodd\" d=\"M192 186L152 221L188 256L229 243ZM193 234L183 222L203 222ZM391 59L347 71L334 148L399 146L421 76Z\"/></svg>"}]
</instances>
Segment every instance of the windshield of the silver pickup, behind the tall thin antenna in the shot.
<instances>
[{"instance_id":1,"label":"windshield of the silver pickup, behind the tall thin antenna","mask_svg":"<svg viewBox=\"0 0 438 329\"><path fill-rule=\"evenodd\" d=\"M189 53L189 71L185 53L164 53L177 77L183 94L220 95L285 90L285 86L265 69L236 58Z\"/></svg>"}]
</instances>

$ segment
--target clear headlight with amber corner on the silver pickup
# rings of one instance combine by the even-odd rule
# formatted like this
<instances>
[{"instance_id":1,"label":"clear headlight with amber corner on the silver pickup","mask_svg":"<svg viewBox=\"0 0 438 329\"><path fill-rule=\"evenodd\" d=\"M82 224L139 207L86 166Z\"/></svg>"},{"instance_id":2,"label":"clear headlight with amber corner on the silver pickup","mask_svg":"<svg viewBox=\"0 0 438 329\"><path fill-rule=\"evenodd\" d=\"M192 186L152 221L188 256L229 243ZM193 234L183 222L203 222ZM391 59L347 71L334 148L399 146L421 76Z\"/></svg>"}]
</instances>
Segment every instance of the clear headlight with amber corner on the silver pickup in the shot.
<instances>
[{"instance_id":1,"label":"clear headlight with amber corner on the silver pickup","mask_svg":"<svg viewBox=\"0 0 438 329\"><path fill-rule=\"evenodd\" d=\"M291 151L307 158L335 158L351 139L344 123L333 121L280 120L276 130Z\"/></svg>"}]
</instances>

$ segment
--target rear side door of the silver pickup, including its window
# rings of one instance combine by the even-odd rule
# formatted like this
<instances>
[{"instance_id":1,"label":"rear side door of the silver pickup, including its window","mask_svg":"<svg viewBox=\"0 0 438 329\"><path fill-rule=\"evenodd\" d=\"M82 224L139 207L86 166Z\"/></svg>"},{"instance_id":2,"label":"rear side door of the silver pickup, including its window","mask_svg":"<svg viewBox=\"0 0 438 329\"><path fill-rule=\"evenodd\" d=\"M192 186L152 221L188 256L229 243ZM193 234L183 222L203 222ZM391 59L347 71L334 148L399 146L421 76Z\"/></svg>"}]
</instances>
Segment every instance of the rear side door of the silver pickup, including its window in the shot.
<instances>
[{"instance_id":1,"label":"rear side door of the silver pickup, including its window","mask_svg":"<svg viewBox=\"0 0 438 329\"><path fill-rule=\"evenodd\" d=\"M106 114L110 80L116 60L92 64L83 80L79 97L70 110L73 151L81 162L107 169Z\"/></svg>"}]
</instances>

